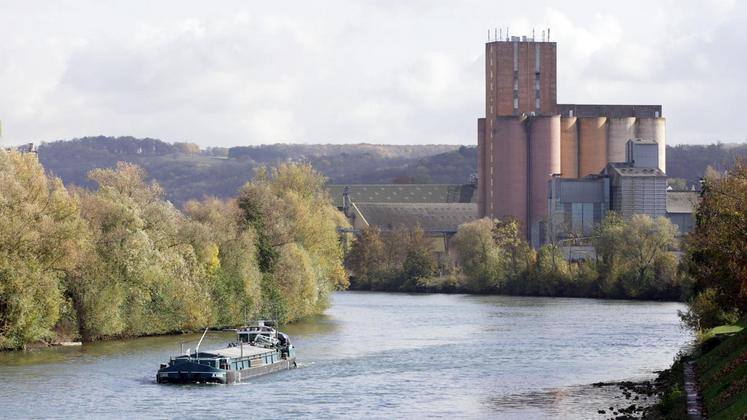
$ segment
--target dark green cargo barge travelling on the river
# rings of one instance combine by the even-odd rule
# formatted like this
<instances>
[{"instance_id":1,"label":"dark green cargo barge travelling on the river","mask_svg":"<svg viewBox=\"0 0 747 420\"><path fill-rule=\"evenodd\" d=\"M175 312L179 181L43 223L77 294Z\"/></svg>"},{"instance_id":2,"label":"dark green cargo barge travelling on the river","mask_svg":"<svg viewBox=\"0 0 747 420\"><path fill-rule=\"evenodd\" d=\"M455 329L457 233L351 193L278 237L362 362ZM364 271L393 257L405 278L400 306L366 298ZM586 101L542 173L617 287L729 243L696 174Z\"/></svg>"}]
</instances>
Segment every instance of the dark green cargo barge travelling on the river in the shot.
<instances>
[{"instance_id":1,"label":"dark green cargo barge travelling on the river","mask_svg":"<svg viewBox=\"0 0 747 420\"><path fill-rule=\"evenodd\" d=\"M156 382L232 384L296 367L295 348L274 323L260 321L239 328L235 342L222 349L201 351L206 333L207 329L194 352L187 350L161 364Z\"/></svg>"}]
</instances>

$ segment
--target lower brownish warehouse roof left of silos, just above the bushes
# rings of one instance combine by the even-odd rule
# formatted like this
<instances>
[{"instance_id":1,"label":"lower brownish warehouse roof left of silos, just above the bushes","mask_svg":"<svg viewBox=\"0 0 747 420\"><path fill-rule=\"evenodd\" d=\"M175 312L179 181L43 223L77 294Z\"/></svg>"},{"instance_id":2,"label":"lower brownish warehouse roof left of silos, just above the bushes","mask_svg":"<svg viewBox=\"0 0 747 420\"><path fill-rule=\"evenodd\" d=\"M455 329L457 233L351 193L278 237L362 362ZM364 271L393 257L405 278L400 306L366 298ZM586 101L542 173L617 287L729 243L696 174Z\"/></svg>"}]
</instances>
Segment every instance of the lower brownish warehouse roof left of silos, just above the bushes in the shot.
<instances>
[{"instance_id":1,"label":"lower brownish warehouse roof left of silos, just above the bushes","mask_svg":"<svg viewBox=\"0 0 747 420\"><path fill-rule=\"evenodd\" d=\"M369 225L382 230L420 225L426 232L456 232L477 218L474 203L355 203Z\"/></svg>"}]
</instances>

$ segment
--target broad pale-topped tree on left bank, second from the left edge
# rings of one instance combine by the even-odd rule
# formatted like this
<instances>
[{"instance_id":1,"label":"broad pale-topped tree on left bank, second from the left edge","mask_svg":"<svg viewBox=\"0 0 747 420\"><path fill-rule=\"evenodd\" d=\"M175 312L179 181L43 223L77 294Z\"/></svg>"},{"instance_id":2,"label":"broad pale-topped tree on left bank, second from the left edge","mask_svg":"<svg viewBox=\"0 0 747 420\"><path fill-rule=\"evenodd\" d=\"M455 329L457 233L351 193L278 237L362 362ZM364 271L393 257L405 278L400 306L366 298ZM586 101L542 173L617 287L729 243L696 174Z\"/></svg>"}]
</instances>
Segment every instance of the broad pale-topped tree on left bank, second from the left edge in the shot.
<instances>
[{"instance_id":1,"label":"broad pale-topped tree on left bank, second from the left edge","mask_svg":"<svg viewBox=\"0 0 747 420\"><path fill-rule=\"evenodd\" d=\"M80 197L93 246L68 282L84 339L209 325L206 267L183 235L184 215L135 165L90 177L99 189Z\"/></svg>"}]
</instances>

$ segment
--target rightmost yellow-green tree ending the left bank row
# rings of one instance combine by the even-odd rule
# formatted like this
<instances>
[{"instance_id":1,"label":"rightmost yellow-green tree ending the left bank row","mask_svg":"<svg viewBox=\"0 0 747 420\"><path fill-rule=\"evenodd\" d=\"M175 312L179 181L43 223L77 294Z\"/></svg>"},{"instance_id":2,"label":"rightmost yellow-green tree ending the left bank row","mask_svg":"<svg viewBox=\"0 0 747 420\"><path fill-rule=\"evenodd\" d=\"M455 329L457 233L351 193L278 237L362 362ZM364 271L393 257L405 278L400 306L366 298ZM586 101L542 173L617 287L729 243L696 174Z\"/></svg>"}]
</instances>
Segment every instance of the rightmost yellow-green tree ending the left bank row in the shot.
<instances>
[{"instance_id":1,"label":"rightmost yellow-green tree ending the left bank row","mask_svg":"<svg viewBox=\"0 0 747 420\"><path fill-rule=\"evenodd\" d=\"M337 234L347 221L324 182L310 165L280 164L259 168L239 193L245 226L257 232L262 313L281 321L321 311L348 285Z\"/></svg>"}]
</instances>

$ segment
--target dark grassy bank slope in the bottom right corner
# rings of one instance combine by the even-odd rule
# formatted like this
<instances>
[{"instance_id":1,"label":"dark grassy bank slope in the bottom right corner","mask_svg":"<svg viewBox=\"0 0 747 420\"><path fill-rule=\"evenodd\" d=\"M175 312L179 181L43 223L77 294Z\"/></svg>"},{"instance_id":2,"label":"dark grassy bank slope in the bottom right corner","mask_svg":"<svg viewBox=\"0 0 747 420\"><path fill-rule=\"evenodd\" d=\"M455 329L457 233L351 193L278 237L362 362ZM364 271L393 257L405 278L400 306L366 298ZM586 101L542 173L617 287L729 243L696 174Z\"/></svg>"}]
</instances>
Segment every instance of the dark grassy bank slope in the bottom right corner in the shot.
<instances>
[{"instance_id":1,"label":"dark grassy bank slope in the bottom right corner","mask_svg":"<svg viewBox=\"0 0 747 420\"><path fill-rule=\"evenodd\" d=\"M660 375L661 401L650 413L653 418L679 419L687 414L682 363L694 360L710 419L740 419L747 416L747 330L742 325L717 327L703 336L705 341L689 356L676 361Z\"/></svg>"}]
</instances>

